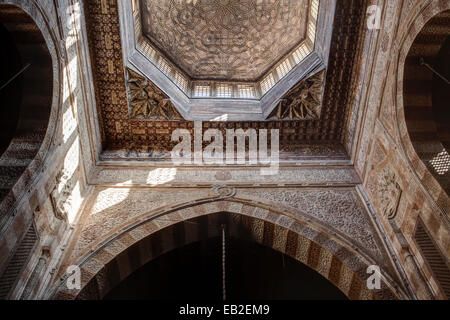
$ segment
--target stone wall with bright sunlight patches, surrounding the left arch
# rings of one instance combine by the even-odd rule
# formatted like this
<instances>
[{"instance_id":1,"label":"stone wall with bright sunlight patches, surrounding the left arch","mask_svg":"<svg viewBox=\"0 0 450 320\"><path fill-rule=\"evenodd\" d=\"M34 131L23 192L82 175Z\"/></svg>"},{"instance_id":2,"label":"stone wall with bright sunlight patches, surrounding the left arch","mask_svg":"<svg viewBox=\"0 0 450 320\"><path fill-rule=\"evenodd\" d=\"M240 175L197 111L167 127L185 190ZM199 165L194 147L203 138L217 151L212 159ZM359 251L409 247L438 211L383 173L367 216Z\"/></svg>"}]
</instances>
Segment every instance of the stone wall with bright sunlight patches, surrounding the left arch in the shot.
<instances>
[{"instance_id":1,"label":"stone wall with bright sunlight patches, surrounding the left arch","mask_svg":"<svg viewBox=\"0 0 450 320\"><path fill-rule=\"evenodd\" d=\"M0 282L12 281L5 289L6 298L30 299L51 281L87 191L86 173L95 160L96 136L89 133L95 118L90 119L87 112L94 100L89 96L91 82L87 51L82 45L85 31L80 2L0 1L3 4L20 8L34 20L53 68L45 137L35 158L11 186L13 197L2 203L1 213ZM30 228L35 230L37 241L19 264L14 255L23 247ZM5 271L11 268L20 270L20 276L9 279Z\"/></svg>"}]
</instances>

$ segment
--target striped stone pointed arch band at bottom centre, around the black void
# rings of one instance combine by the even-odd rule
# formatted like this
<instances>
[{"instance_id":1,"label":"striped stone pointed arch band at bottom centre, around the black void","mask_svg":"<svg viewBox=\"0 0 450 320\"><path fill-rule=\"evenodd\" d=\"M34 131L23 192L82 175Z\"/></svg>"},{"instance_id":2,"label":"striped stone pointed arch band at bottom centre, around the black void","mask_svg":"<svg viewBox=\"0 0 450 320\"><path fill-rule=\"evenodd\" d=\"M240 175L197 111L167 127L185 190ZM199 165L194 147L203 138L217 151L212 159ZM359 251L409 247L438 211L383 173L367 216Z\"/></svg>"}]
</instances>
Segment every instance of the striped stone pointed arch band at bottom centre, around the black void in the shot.
<instances>
[{"instance_id":1,"label":"striped stone pointed arch band at bottom centre, around the black void","mask_svg":"<svg viewBox=\"0 0 450 320\"><path fill-rule=\"evenodd\" d=\"M50 296L53 299L100 299L159 255L200 240L202 232L207 232L208 237L216 236L214 230L205 231L195 222L217 224L224 220L231 226L232 234L239 236L240 230L240 235L244 233L253 241L307 265L350 299L398 298L383 276L380 290L367 289L366 271L371 262L357 250L287 214L265 212L256 205L235 199L189 203L138 221L78 261L82 282L79 290L67 289L66 277L62 277Z\"/></svg>"}]
</instances>

